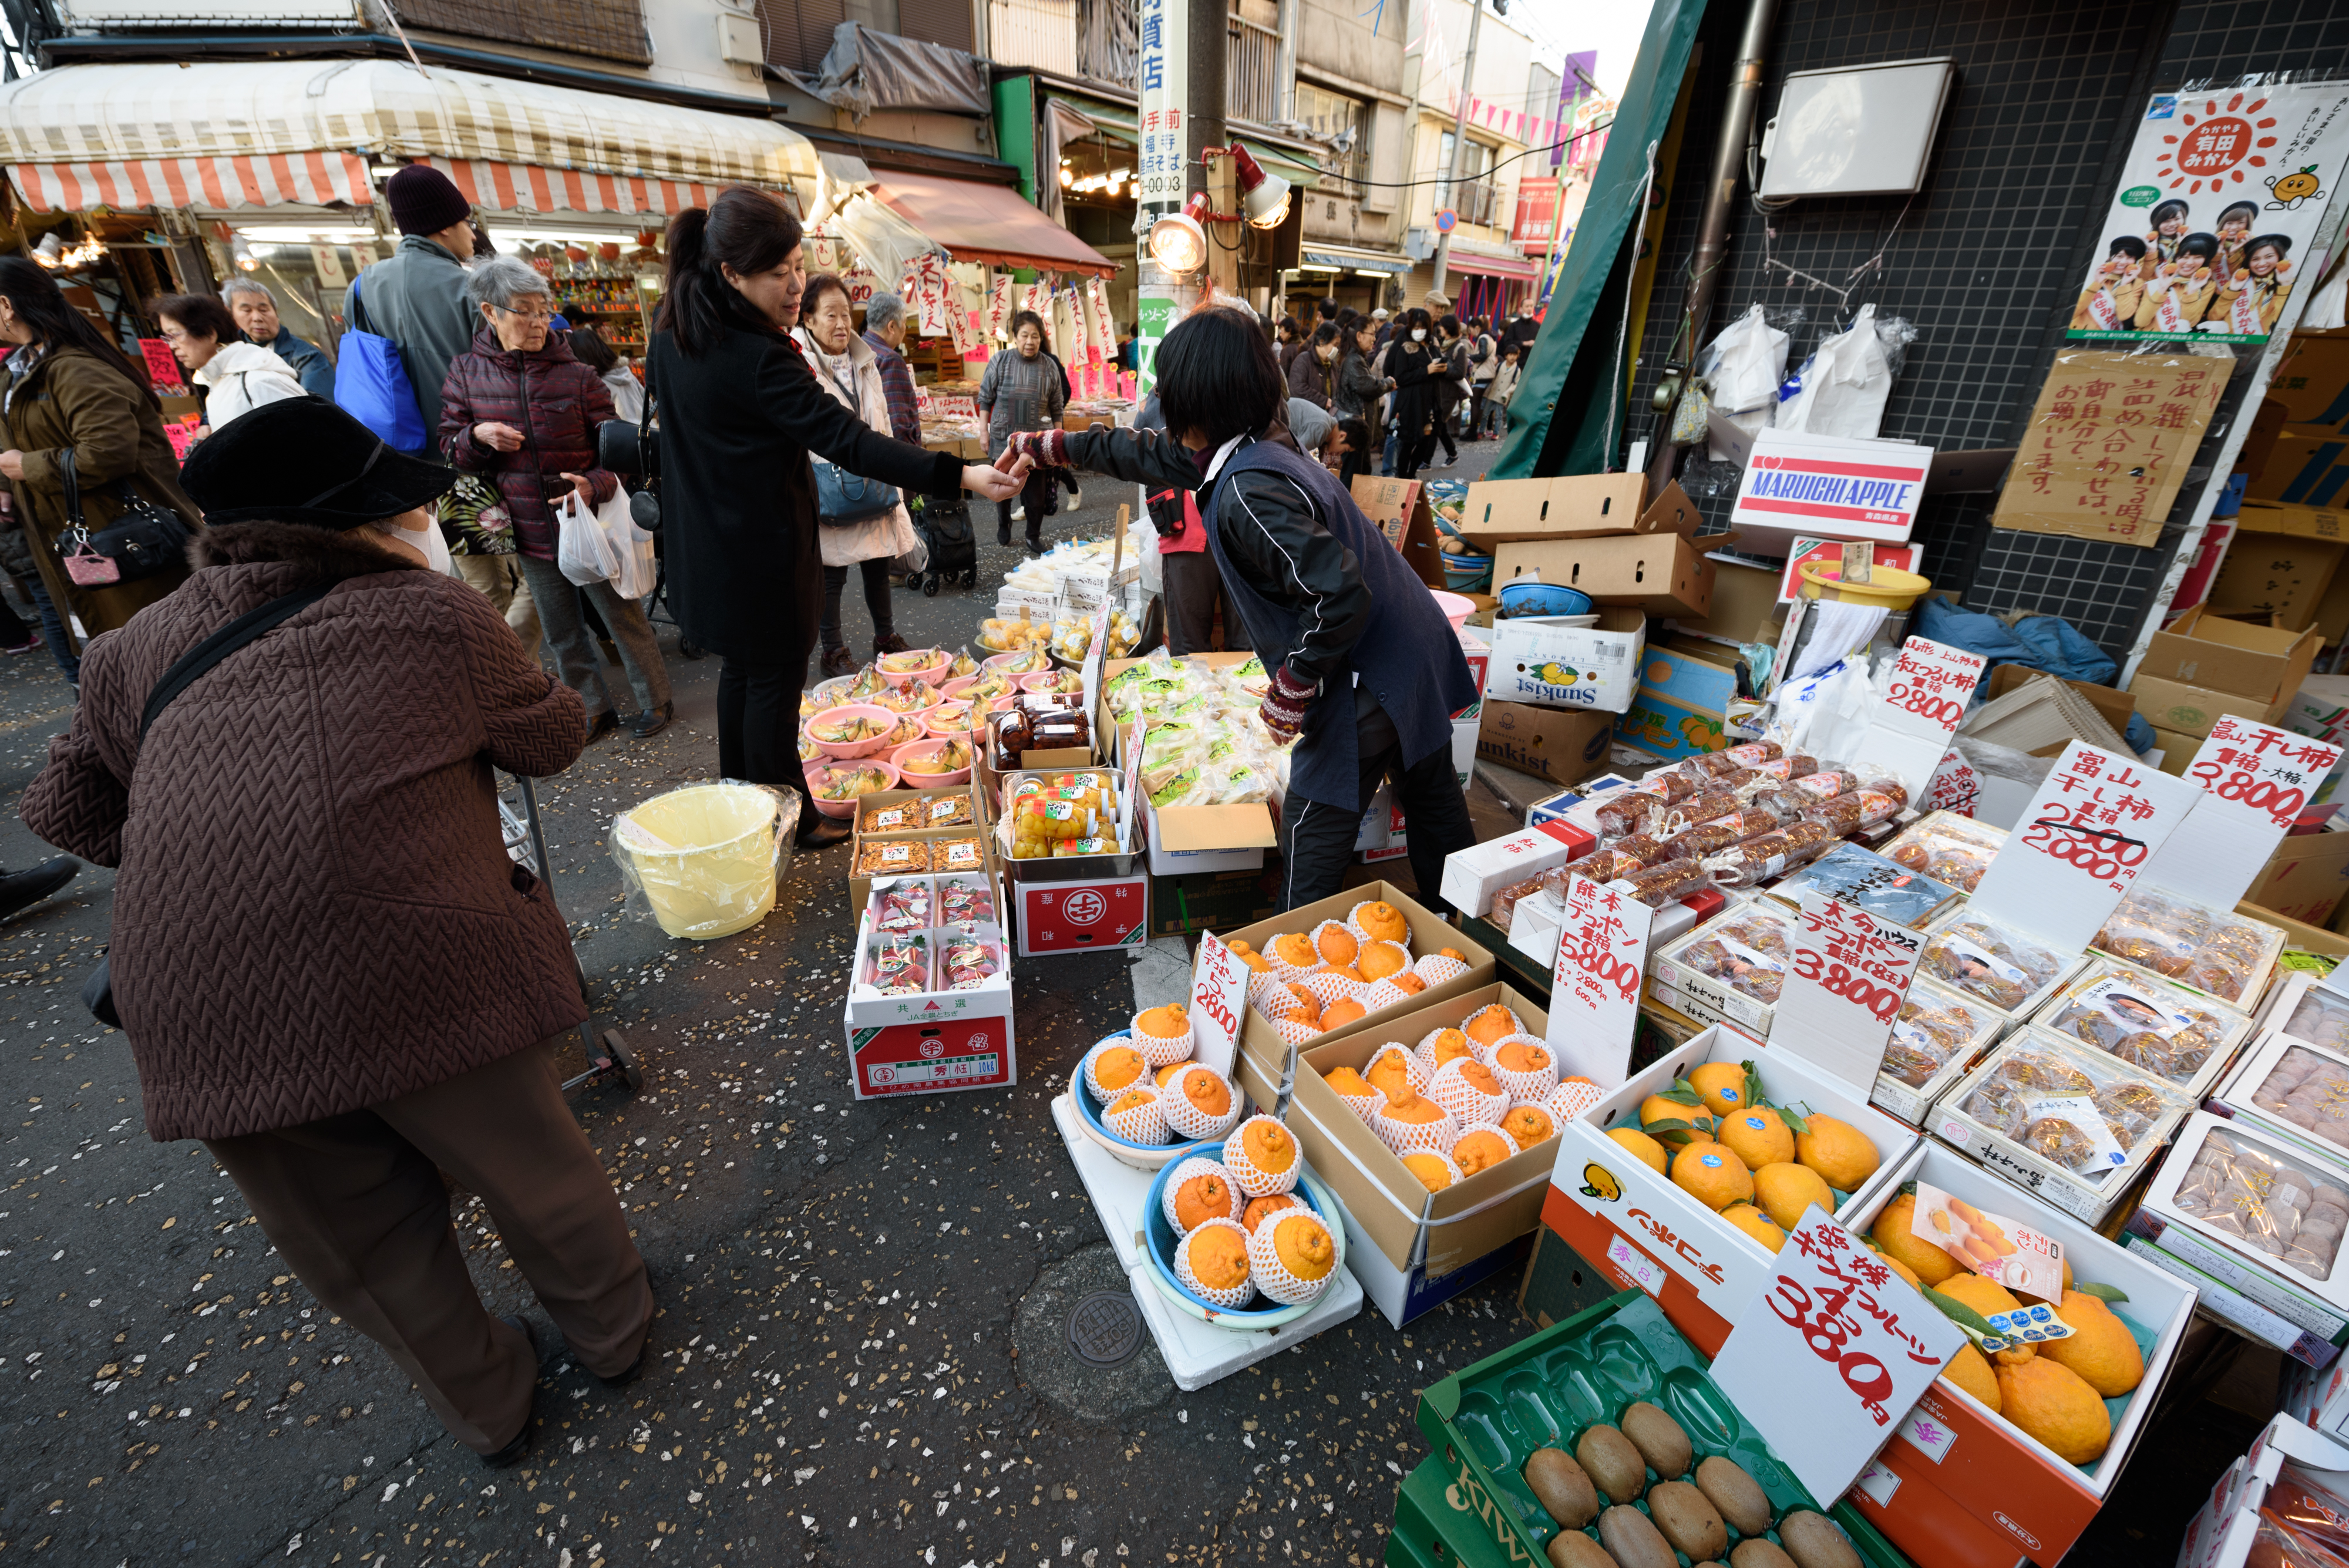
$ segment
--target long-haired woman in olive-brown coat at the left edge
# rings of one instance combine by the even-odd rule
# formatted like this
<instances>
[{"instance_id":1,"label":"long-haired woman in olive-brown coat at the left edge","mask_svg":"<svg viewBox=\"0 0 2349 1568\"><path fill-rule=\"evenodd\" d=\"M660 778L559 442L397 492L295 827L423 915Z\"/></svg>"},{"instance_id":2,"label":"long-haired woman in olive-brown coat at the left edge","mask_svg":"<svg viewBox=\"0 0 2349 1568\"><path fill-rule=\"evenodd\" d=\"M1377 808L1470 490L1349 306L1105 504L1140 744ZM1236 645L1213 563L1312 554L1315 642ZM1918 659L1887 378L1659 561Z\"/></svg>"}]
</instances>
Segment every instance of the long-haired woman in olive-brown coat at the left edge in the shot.
<instances>
[{"instance_id":1,"label":"long-haired woman in olive-brown coat at the left edge","mask_svg":"<svg viewBox=\"0 0 2349 1568\"><path fill-rule=\"evenodd\" d=\"M80 653L186 582L188 568L108 587L73 582L59 549L68 530L63 455L73 453L92 533L113 523L132 493L169 507L188 528L200 526L195 502L179 488L179 460L146 373L23 256L0 256L0 340L14 345L0 364L0 474L16 491L40 582Z\"/></svg>"}]
</instances>

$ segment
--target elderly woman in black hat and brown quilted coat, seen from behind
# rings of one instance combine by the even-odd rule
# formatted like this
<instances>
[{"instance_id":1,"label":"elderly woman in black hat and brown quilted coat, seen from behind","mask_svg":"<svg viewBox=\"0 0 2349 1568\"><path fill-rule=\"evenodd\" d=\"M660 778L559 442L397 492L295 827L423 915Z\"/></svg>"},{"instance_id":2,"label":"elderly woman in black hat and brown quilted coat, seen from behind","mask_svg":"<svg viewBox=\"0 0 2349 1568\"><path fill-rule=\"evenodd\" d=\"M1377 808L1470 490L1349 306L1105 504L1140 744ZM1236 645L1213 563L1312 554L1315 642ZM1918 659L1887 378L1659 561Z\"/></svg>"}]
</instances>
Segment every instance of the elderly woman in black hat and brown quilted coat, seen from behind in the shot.
<instances>
[{"instance_id":1,"label":"elderly woman in black hat and brown quilted coat, seen from behind","mask_svg":"<svg viewBox=\"0 0 2349 1568\"><path fill-rule=\"evenodd\" d=\"M308 397L204 441L195 573L92 641L21 810L120 866L108 969L148 1136L202 1138L303 1286L512 1465L538 1350L482 1307L442 1171L606 1383L637 1376L653 1293L543 1045L587 1009L491 772L568 768L585 714L425 568L453 479ZM272 615L155 709L183 655Z\"/></svg>"}]
</instances>

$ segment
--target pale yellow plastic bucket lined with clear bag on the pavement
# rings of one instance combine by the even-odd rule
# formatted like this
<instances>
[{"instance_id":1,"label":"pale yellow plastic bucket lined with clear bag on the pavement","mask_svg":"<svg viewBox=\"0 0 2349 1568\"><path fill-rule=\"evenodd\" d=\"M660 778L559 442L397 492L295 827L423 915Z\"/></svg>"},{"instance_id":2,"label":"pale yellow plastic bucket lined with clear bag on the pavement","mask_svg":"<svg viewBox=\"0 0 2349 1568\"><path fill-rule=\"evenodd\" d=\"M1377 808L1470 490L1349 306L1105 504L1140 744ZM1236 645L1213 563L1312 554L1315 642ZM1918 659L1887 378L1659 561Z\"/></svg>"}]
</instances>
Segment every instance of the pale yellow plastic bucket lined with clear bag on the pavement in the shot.
<instances>
[{"instance_id":1,"label":"pale yellow plastic bucket lined with clear bag on the pavement","mask_svg":"<svg viewBox=\"0 0 2349 1568\"><path fill-rule=\"evenodd\" d=\"M775 908L775 796L688 784L620 812L613 845L669 937L733 937Z\"/></svg>"}]
</instances>

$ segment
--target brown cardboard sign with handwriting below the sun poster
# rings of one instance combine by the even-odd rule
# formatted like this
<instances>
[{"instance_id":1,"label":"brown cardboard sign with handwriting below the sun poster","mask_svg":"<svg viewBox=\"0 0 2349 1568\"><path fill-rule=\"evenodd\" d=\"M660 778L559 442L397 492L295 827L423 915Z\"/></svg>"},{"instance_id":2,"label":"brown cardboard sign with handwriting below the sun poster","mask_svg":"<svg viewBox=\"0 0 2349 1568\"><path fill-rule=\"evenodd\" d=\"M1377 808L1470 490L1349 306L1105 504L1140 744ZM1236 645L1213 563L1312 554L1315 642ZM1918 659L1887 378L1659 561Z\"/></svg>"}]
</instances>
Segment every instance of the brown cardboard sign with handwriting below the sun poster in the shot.
<instances>
[{"instance_id":1,"label":"brown cardboard sign with handwriting below the sun poster","mask_svg":"<svg viewBox=\"0 0 2349 1568\"><path fill-rule=\"evenodd\" d=\"M2234 359L2058 354L1992 528L2152 549Z\"/></svg>"}]
</instances>

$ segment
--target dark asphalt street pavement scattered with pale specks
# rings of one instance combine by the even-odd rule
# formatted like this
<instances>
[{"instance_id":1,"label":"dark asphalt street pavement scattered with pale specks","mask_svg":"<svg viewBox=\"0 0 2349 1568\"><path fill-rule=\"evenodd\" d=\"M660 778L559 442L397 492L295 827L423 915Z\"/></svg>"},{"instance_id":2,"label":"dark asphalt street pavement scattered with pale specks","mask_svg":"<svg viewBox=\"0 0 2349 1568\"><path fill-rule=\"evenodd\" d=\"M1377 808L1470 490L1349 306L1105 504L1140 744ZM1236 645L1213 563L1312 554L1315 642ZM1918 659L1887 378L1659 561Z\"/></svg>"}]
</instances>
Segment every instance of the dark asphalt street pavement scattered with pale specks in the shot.
<instances>
[{"instance_id":1,"label":"dark asphalt street pavement scattered with pale specks","mask_svg":"<svg viewBox=\"0 0 2349 1568\"><path fill-rule=\"evenodd\" d=\"M1468 448L1489 458L1489 444ZM1473 472L1470 455L1452 472ZM1123 491L1123 495L1111 495ZM1048 538L1095 535L1097 481ZM980 589L900 592L961 643L1012 552L980 512ZM869 650L850 592L848 627ZM749 932L672 941L622 906L611 815L714 768L716 660L679 721L540 789L597 1026L639 1096L573 1101L653 1270L653 1366L606 1390L561 1352L496 1225L451 1195L496 1312L547 1352L529 1458L484 1469L390 1359L329 1319L197 1143L153 1143L120 1033L80 1007L113 873L0 925L0 1554L61 1563L1374 1563L1426 1455L1416 1390L1527 1326L1501 1277L1398 1333L1374 1310L1198 1392L1156 1350L1088 1368L1069 1307L1116 1268L1048 1103L1165 953L1015 967L1019 1084L848 1094L848 852L792 859ZM615 674L615 671L608 671ZM0 660L0 789L70 721L47 655ZM0 822L0 861L47 850ZM218 984L237 984L223 974ZM364 1042L355 1042L364 1047ZM578 1066L578 1049L571 1049Z\"/></svg>"}]
</instances>

